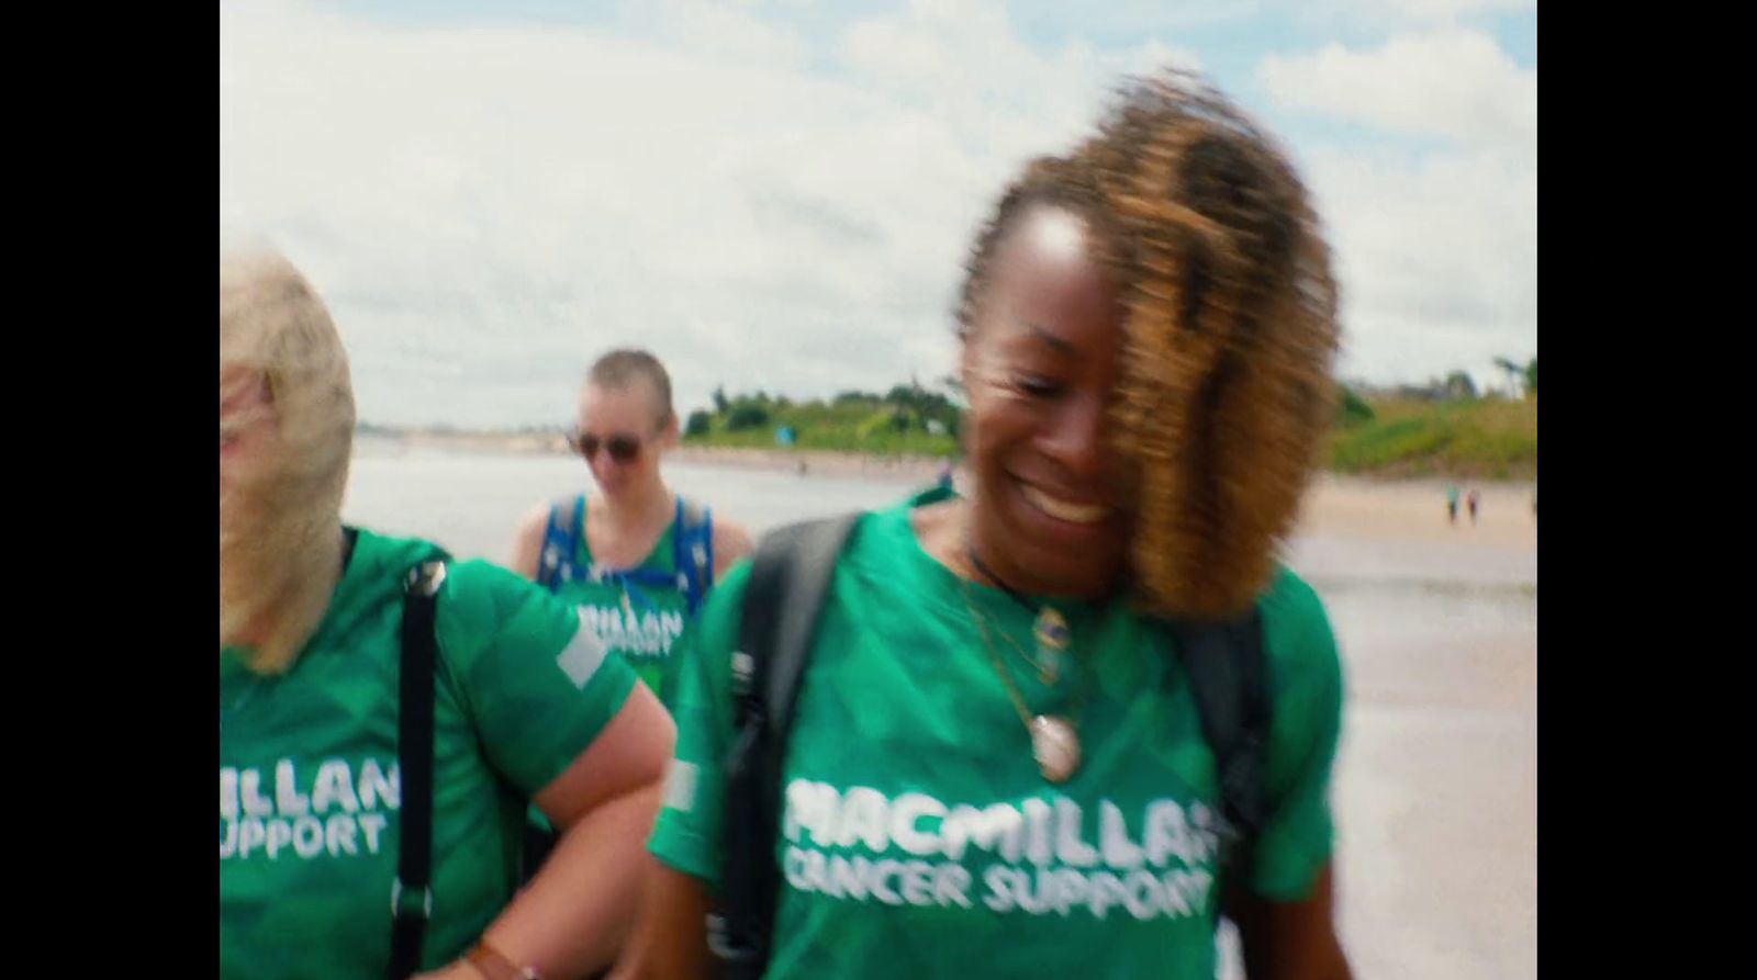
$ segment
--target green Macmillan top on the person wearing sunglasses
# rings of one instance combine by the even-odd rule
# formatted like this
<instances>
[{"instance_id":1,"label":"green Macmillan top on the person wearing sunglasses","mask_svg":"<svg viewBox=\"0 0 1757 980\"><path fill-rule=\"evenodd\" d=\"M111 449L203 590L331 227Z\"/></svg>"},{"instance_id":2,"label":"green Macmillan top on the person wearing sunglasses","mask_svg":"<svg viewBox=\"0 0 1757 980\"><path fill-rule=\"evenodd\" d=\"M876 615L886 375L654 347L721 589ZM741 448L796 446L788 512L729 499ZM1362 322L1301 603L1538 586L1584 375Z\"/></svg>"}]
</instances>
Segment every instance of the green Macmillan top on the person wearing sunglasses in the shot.
<instances>
[{"instance_id":1,"label":"green Macmillan top on the person wearing sunglasses","mask_svg":"<svg viewBox=\"0 0 1757 980\"><path fill-rule=\"evenodd\" d=\"M573 520L571 506L564 516ZM557 597L578 606L580 625L627 660L636 676L647 681L647 687L661 699L669 695L666 676L671 646L689 620L689 597L682 590L676 560L671 553L676 532L678 527L673 520L659 536L652 553L638 566L645 573L654 573L654 580L664 580L664 585L654 581L624 588L608 580L575 578L557 581L553 587ZM589 569L592 567L592 546L585 539L585 530L580 530L578 541L575 564Z\"/></svg>"}]
</instances>

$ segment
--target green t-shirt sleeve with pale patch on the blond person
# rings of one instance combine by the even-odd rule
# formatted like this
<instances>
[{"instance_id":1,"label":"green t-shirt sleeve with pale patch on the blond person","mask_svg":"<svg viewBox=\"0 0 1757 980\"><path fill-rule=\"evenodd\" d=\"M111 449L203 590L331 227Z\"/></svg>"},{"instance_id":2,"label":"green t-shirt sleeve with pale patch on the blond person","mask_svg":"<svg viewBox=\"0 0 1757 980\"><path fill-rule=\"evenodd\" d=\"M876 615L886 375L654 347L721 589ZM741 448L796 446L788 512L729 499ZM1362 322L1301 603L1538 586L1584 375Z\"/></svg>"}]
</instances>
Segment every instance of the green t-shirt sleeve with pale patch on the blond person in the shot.
<instances>
[{"instance_id":1,"label":"green t-shirt sleeve with pale patch on the blond person","mask_svg":"<svg viewBox=\"0 0 1757 980\"><path fill-rule=\"evenodd\" d=\"M634 669L575 609L487 562L459 562L439 592L439 655L488 762L532 796L617 717Z\"/></svg>"}]
</instances>

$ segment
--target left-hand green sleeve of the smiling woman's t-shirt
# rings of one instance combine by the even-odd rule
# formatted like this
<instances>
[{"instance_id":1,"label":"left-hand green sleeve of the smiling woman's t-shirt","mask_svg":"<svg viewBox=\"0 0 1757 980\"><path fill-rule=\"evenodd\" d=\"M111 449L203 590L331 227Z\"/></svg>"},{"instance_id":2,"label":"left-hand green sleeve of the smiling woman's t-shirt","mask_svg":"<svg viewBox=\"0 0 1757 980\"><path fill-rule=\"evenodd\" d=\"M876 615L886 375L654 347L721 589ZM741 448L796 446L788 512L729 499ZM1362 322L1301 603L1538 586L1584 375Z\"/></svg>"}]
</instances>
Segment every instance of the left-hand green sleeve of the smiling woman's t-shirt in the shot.
<instances>
[{"instance_id":1,"label":"left-hand green sleeve of the smiling woman's t-shirt","mask_svg":"<svg viewBox=\"0 0 1757 980\"><path fill-rule=\"evenodd\" d=\"M733 648L750 562L740 562L708 594L683 631L676 659L676 759L666 775L664 806L648 850L666 866L708 882L720 878L720 794L733 739Z\"/></svg>"}]
</instances>

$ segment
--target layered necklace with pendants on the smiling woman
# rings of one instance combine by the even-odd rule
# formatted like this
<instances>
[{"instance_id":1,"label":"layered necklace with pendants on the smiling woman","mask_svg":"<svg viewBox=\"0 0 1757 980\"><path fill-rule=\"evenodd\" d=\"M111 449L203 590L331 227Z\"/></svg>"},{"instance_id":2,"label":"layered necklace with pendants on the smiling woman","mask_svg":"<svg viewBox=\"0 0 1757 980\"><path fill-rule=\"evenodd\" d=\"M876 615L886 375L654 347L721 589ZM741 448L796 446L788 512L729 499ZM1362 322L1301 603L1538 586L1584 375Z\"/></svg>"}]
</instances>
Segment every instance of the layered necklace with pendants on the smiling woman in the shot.
<instances>
[{"instance_id":1,"label":"layered necklace with pendants on the smiling woman","mask_svg":"<svg viewBox=\"0 0 1757 980\"><path fill-rule=\"evenodd\" d=\"M968 539L965 541L965 557L970 566L998 585L1012 601L1033 611L1030 599L1016 592L1010 585L1001 581L982 560L977 557L975 544ZM1019 722L1024 724L1024 731L1031 736L1031 755L1037 759L1037 767L1044 773L1044 778L1052 783L1065 783L1074 778L1074 773L1081 767L1081 736L1077 715L1086 703L1086 685L1084 678L1081 681L1079 694L1075 695L1072 715L1033 715L1024 703L1024 694L1019 692L1019 685L1014 683L1012 674L1007 671L1007 664L1001 660L1000 652L994 648L994 641L989 636L987 622L982 613L977 611L975 599L970 595L970 583L959 576L958 585L965 595L965 609L970 611L970 620L977 627L977 636L982 638L982 646L987 650L989 660L994 664L994 673L1000 674L1001 685L1007 687L1007 697L1012 699L1014 711L1019 713ZM1052 606L1042 606L1035 609L1037 620L1031 625L1031 638L1035 641L1037 652L1026 653L1005 631L996 627L1001 639L1012 646L1031 667L1037 669L1038 680L1044 685L1052 685L1061 676L1061 669L1070 660L1072 632L1068 629L1066 616Z\"/></svg>"}]
</instances>

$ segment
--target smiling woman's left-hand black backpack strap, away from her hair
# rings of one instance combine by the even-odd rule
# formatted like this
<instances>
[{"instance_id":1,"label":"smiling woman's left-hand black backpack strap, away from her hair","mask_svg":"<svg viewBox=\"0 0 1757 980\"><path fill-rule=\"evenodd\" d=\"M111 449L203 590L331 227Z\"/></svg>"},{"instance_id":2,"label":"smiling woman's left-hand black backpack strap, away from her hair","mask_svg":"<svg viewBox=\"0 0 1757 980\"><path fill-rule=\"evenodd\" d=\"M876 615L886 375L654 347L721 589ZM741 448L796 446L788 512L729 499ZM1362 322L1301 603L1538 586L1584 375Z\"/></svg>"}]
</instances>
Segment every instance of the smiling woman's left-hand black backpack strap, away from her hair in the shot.
<instances>
[{"instance_id":1,"label":"smiling woman's left-hand black backpack strap, away from her hair","mask_svg":"<svg viewBox=\"0 0 1757 980\"><path fill-rule=\"evenodd\" d=\"M768 968L787 734L836 557L857 520L842 515L771 530L752 558L733 653L736 731L726 764L719 912L708 917L708 947L726 980L756 980Z\"/></svg>"}]
</instances>

